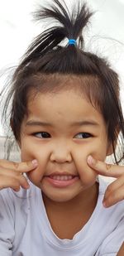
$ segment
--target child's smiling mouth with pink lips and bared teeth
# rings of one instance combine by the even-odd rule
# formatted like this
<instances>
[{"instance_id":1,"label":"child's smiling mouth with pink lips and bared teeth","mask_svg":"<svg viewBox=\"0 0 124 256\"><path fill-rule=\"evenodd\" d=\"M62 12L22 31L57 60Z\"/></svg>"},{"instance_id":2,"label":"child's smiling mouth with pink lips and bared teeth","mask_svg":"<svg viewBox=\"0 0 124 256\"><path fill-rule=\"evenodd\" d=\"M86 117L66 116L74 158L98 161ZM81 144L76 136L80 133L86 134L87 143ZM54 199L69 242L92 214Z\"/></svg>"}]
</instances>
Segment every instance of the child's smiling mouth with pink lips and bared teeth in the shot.
<instances>
[{"instance_id":1,"label":"child's smiling mouth with pink lips and bared teeth","mask_svg":"<svg viewBox=\"0 0 124 256\"><path fill-rule=\"evenodd\" d=\"M67 172L54 172L50 176L45 176L45 180L55 187L65 187L78 181L79 176L70 175Z\"/></svg>"}]
</instances>

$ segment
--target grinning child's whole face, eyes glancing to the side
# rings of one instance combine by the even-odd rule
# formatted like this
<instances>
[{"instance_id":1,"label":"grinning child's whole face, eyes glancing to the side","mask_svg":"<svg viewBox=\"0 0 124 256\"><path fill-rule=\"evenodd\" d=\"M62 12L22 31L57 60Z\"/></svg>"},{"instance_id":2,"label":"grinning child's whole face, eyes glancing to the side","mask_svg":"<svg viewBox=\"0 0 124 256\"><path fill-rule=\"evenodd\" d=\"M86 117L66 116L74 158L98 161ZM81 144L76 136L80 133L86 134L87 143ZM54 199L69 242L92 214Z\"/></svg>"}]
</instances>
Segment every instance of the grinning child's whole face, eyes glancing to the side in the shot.
<instances>
[{"instance_id":1,"label":"grinning child's whole face, eyes glancing to the side","mask_svg":"<svg viewBox=\"0 0 124 256\"><path fill-rule=\"evenodd\" d=\"M104 161L109 153L102 114L83 95L60 91L32 94L21 125L21 160L37 159L28 177L45 196L67 201L95 184L88 155Z\"/></svg>"}]
</instances>

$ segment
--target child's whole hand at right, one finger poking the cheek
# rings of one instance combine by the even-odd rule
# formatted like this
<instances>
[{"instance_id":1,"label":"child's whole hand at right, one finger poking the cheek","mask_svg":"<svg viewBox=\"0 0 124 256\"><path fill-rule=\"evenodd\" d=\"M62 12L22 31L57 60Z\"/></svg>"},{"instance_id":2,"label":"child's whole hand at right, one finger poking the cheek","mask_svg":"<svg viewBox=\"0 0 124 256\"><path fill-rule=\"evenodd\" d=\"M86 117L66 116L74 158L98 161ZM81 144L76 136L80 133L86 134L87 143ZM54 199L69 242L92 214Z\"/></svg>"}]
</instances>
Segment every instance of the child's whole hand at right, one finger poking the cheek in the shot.
<instances>
[{"instance_id":1,"label":"child's whole hand at right, one finger poking the cheek","mask_svg":"<svg viewBox=\"0 0 124 256\"><path fill-rule=\"evenodd\" d=\"M98 161L88 156L88 166L99 175L116 178L115 181L107 186L103 198L103 205L109 207L124 199L124 166L117 166Z\"/></svg>"}]
</instances>

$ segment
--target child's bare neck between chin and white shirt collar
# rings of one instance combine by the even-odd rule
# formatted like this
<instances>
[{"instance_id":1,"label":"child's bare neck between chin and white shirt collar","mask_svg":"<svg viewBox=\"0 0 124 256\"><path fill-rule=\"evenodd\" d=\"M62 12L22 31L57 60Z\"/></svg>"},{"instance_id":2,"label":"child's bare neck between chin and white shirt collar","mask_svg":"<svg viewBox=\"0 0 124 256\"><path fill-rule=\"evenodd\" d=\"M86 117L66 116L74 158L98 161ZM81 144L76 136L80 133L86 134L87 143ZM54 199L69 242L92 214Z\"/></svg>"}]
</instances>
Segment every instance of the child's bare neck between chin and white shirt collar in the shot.
<instances>
[{"instance_id":1,"label":"child's bare neck between chin and white shirt collar","mask_svg":"<svg viewBox=\"0 0 124 256\"><path fill-rule=\"evenodd\" d=\"M55 202L43 195L51 228L60 239L73 239L88 222L98 200L98 183L67 202Z\"/></svg>"}]
</instances>

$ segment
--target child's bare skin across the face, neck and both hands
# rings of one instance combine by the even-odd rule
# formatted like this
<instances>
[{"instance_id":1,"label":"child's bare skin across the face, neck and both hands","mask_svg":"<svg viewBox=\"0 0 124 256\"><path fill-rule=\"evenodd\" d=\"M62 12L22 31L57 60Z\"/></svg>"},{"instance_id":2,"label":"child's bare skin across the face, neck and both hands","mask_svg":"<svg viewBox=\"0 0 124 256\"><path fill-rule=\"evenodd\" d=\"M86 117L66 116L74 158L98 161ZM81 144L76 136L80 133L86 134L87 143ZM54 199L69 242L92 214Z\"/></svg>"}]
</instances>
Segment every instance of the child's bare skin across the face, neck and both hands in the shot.
<instances>
[{"instance_id":1,"label":"child's bare skin across the face, neck and both hands","mask_svg":"<svg viewBox=\"0 0 124 256\"><path fill-rule=\"evenodd\" d=\"M75 122L85 123L75 125ZM49 133L50 137L42 138L41 132ZM88 138L83 137L85 133L88 133ZM21 163L0 161L0 188L10 186L16 191L20 186L28 188L26 178L21 175L26 172L29 179L41 188L50 224L61 239L72 239L92 215L98 199L98 174L117 177L106 191L104 205L110 206L122 200L123 167L107 168L104 163L112 150L107 142L103 116L74 89L55 95L37 94L35 98L31 93L19 144ZM32 162L32 159L36 160ZM55 188L45 181L45 175L54 171L78 174L79 180L73 186ZM71 220L70 213L73 215Z\"/></svg>"}]
</instances>

